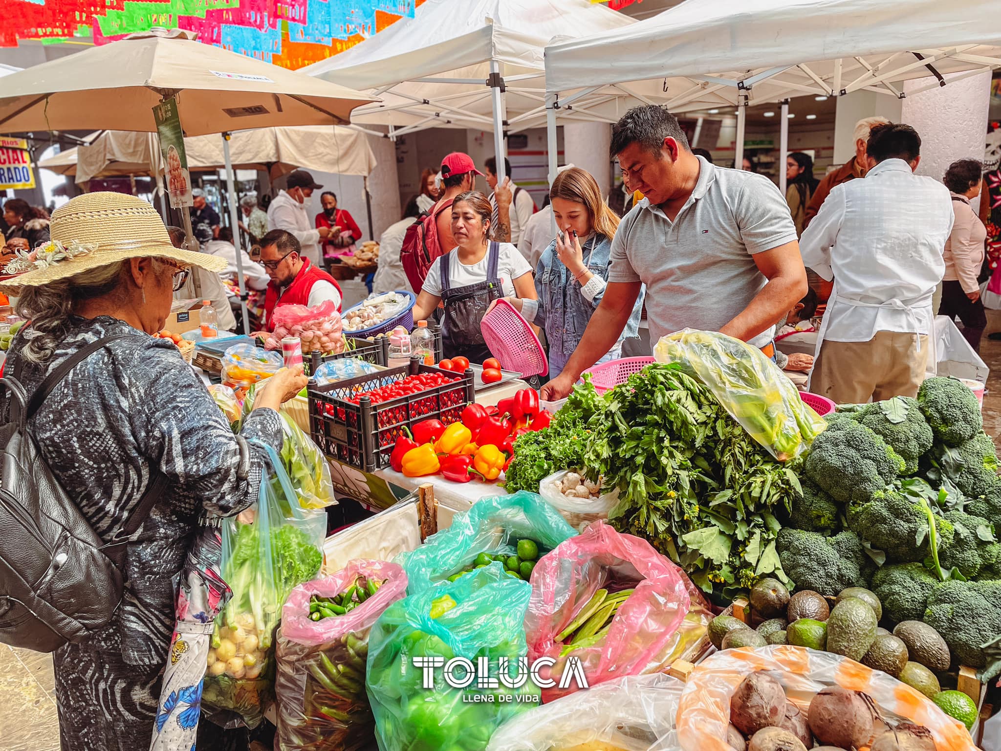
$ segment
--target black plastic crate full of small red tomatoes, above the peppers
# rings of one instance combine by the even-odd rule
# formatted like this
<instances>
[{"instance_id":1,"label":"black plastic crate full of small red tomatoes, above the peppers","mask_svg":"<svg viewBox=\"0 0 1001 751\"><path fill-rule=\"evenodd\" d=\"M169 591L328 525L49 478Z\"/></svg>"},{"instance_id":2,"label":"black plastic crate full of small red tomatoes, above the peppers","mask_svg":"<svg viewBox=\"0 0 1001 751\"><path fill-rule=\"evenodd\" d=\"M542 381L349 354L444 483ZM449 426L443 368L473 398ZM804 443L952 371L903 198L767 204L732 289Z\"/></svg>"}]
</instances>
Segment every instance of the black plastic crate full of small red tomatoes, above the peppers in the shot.
<instances>
[{"instance_id":1,"label":"black plastic crate full of small red tomatoes, above the peppers","mask_svg":"<svg viewBox=\"0 0 1001 751\"><path fill-rule=\"evenodd\" d=\"M467 370L450 384L388 402L372 404L363 397L355 405L348 400L421 372L455 376L450 370L421 364L419 358L413 356L409 364L400 367L325 387L310 386L309 432L313 441L330 459L362 472L388 467L389 455L396 439L405 435L404 428L412 431L413 426L423 420L437 419L445 425L458 422L462 410L474 400L472 371Z\"/></svg>"}]
</instances>

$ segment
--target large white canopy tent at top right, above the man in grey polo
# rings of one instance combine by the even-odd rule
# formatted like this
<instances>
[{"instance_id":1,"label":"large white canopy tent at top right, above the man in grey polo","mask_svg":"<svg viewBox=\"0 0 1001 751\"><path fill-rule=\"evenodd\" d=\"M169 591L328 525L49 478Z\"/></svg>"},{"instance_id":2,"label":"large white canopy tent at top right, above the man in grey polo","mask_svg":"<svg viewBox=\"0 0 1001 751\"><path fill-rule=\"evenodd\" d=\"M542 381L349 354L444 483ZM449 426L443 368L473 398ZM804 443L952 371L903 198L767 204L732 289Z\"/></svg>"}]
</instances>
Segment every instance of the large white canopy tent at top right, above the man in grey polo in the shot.
<instances>
[{"instance_id":1,"label":"large white canopy tent at top right, above the man in grey polo","mask_svg":"<svg viewBox=\"0 0 1001 751\"><path fill-rule=\"evenodd\" d=\"M580 97L626 89L675 112L736 106L739 164L748 105L860 90L903 98L904 80L934 76L934 88L998 66L996 0L687 0L546 48L550 138L557 113ZM786 106L782 114L785 150ZM556 168L551 149L551 177Z\"/></svg>"}]
</instances>

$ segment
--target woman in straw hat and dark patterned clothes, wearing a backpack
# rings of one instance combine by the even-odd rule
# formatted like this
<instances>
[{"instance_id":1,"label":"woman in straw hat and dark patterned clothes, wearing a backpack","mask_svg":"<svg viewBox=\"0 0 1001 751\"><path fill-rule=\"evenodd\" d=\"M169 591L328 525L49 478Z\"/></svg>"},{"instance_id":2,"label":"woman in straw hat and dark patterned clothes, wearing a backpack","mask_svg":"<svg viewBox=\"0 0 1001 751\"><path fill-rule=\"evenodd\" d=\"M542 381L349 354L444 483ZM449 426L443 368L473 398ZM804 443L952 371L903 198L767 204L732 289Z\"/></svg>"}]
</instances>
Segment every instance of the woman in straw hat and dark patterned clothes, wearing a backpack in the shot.
<instances>
[{"instance_id":1,"label":"woman in straw hat and dark patterned clothes, wearing a backpack","mask_svg":"<svg viewBox=\"0 0 1001 751\"><path fill-rule=\"evenodd\" d=\"M222 261L175 248L153 207L120 193L72 199L52 215L51 237L8 266L21 274L3 287L19 294L18 312L31 323L12 342L6 372L30 394L74 351L124 335L74 367L28 429L105 540L151 477L168 484L128 543L124 597L111 622L54 653L63 751L134 751L149 746L174 624L172 582L199 516L231 516L257 500L266 458L256 442L281 448L277 410L305 379L300 368L273 376L234 436L176 347L150 336L189 268L218 272Z\"/></svg>"}]
</instances>

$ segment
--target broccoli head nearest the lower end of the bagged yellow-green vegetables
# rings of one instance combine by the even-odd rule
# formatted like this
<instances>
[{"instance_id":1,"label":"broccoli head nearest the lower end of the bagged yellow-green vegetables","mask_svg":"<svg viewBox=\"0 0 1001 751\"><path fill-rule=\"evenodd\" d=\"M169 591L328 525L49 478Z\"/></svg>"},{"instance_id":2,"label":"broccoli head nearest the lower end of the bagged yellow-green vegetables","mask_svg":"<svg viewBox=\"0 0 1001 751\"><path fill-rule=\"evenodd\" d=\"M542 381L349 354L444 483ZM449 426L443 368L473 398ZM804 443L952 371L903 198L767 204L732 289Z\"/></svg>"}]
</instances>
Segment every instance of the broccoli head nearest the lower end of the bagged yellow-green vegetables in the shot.
<instances>
[{"instance_id":1,"label":"broccoli head nearest the lower end of the bagged yellow-green vegetables","mask_svg":"<svg viewBox=\"0 0 1001 751\"><path fill-rule=\"evenodd\" d=\"M906 469L879 436L854 421L839 421L814 439L806 475L843 504L864 503Z\"/></svg>"}]
</instances>

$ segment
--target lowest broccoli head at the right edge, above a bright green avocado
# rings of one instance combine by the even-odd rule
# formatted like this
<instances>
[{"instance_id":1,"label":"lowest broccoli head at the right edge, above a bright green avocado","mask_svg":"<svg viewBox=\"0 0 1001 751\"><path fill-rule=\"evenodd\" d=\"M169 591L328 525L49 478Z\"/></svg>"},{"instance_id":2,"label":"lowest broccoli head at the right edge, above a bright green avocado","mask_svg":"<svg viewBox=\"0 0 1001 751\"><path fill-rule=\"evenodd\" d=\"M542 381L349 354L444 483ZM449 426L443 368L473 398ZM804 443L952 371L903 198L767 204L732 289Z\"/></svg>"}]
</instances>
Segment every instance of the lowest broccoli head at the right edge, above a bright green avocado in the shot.
<instances>
[{"instance_id":1,"label":"lowest broccoli head at the right edge, above a bright green avocado","mask_svg":"<svg viewBox=\"0 0 1001 751\"><path fill-rule=\"evenodd\" d=\"M928 596L924 621L942 635L960 665L988 667L982 647L1001 635L1001 581L953 580L936 586ZM1001 664L993 668L984 678L997 675Z\"/></svg>"}]
</instances>

